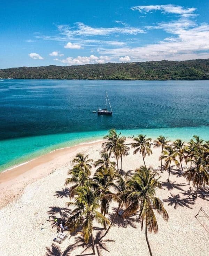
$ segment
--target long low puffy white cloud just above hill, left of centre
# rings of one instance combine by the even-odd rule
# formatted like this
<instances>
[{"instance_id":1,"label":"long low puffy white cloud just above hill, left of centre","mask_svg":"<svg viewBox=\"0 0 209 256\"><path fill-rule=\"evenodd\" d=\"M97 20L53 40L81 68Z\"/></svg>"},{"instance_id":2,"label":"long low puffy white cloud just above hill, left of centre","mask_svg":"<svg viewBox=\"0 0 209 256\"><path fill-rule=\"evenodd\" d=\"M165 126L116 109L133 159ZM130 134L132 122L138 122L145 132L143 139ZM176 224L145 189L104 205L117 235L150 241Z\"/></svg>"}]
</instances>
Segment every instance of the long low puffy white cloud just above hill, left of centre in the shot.
<instances>
[{"instance_id":1,"label":"long low puffy white cloud just above hill, left of centre","mask_svg":"<svg viewBox=\"0 0 209 256\"><path fill-rule=\"evenodd\" d=\"M92 63L104 63L110 60L111 58L108 56L100 56L97 57L95 55L86 56L78 56L76 58L68 57L66 59L54 59L55 61L60 61L62 63L66 63L68 65L84 65L84 64L92 64Z\"/></svg>"}]
</instances>

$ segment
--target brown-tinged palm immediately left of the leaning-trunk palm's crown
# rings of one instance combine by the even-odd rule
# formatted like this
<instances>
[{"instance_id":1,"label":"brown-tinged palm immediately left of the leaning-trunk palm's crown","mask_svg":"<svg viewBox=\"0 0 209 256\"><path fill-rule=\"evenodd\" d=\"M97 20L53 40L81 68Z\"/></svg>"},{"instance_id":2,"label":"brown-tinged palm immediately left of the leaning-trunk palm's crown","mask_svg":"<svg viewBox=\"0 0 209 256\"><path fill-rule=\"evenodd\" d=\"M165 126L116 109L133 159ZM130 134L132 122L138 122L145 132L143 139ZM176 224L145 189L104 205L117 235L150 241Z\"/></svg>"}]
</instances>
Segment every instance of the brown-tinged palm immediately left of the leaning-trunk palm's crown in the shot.
<instances>
[{"instance_id":1,"label":"brown-tinged palm immediately left of the leaning-trunk palm's crown","mask_svg":"<svg viewBox=\"0 0 209 256\"><path fill-rule=\"evenodd\" d=\"M94 174L93 180L96 184L94 183L93 187L96 188L100 195L100 210L104 216L108 214L109 205L111 203L111 198L107 198L105 195L111 193L109 188L114 185L114 176L115 173L111 172L111 170L107 168L99 169ZM106 226L104 226L104 228L106 229Z\"/></svg>"}]
</instances>

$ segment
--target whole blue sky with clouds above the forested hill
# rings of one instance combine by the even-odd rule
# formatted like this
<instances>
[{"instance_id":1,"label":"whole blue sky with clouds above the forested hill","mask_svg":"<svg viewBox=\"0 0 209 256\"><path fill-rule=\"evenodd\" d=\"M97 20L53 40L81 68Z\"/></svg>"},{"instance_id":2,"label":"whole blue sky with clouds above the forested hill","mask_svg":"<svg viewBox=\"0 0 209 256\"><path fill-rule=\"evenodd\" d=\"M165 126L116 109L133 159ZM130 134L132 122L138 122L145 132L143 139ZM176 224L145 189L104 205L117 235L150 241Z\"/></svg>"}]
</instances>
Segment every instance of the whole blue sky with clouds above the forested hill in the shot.
<instances>
[{"instance_id":1,"label":"whole blue sky with clouds above the forested hill","mask_svg":"<svg viewBox=\"0 0 209 256\"><path fill-rule=\"evenodd\" d=\"M0 68L209 58L208 0L2 6Z\"/></svg>"}]
</instances>

